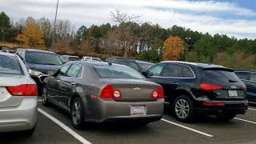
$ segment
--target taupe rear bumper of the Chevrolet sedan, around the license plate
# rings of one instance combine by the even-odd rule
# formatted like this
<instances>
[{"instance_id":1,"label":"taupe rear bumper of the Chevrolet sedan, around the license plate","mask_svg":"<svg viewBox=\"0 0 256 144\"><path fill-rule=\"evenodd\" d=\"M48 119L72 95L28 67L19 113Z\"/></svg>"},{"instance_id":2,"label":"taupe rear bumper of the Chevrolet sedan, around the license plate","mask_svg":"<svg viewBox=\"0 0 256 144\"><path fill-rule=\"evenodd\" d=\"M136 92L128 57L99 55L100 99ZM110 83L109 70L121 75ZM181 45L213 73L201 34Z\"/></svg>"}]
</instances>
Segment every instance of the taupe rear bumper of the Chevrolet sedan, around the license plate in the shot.
<instances>
[{"instance_id":1,"label":"taupe rear bumper of the Chevrolet sedan, around the license plate","mask_svg":"<svg viewBox=\"0 0 256 144\"><path fill-rule=\"evenodd\" d=\"M94 111L94 118L88 121L108 122L114 120L126 120L134 122L154 122L162 118L164 100L158 99L154 102L115 102L114 100L98 99ZM146 115L130 114L130 106L146 106Z\"/></svg>"}]
</instances>

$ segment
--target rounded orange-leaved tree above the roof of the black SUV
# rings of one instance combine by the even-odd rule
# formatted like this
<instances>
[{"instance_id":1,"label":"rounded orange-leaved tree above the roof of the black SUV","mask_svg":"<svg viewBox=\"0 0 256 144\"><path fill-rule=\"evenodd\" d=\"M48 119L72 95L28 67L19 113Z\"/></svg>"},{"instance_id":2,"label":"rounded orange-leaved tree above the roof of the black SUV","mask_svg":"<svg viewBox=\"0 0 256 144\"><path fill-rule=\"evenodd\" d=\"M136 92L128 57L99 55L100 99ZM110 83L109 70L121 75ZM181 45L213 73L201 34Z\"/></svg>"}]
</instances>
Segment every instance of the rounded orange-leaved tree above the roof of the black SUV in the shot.
<instances>
[{"instance_id":1,"label":"rounded orange-leaved tree above the roof of the black SUV","mask_svg":"<svg viewBox=\"0 0 256 144\"><path fill-rule=\"evenodd\" d=\"M185 48L182 39L171 36L164 42L162 58L164 60L177 61L184 50Z\"/></svg>"}]
</instances>

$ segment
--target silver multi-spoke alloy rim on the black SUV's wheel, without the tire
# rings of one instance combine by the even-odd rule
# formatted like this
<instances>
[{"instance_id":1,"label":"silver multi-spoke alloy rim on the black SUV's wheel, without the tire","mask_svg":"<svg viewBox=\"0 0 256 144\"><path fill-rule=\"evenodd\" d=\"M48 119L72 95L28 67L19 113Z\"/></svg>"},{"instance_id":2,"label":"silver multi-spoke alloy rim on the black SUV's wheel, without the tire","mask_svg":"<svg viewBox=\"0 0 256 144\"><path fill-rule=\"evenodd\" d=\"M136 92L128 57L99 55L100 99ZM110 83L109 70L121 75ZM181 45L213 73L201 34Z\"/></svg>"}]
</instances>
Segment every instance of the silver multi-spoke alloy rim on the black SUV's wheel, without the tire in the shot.
<instances>
[{"instance_id":1,"label":"silver multi-spoke alloy rim on the black SUV's wheel, without the tire","mask_svg":"<svg viewBox=\"0 0 256 144\"><path fill-rule=\"evenodd\" d=\"M185 99L179 99L175 104L175 113L178 118L186 118L190 113L189 103Z\"/></svg>"}]
</instances>

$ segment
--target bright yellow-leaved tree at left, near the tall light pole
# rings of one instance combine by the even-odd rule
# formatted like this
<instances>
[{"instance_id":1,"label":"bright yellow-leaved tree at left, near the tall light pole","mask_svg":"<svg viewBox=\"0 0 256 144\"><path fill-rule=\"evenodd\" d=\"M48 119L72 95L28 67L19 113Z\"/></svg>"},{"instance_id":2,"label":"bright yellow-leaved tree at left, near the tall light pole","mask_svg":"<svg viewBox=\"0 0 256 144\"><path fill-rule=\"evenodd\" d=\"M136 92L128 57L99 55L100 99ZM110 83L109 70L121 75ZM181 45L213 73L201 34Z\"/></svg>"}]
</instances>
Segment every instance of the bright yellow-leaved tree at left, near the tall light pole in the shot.
<instances>
[{"instance_id":1,"label":"bright yellow-leaved tree at left, near the tall light pole","mask_svg":"<svg viewBox=\"0 0 256 144\"><path fill-rule=\"evenodd\" d=\"M39 29L39 26L34 22L30 22L25 29L22 30L22 34L18 34L16 39L26 46L42 47L45 44L43 38L44 34L42 30Z\"/></svg>"}]
</instances>

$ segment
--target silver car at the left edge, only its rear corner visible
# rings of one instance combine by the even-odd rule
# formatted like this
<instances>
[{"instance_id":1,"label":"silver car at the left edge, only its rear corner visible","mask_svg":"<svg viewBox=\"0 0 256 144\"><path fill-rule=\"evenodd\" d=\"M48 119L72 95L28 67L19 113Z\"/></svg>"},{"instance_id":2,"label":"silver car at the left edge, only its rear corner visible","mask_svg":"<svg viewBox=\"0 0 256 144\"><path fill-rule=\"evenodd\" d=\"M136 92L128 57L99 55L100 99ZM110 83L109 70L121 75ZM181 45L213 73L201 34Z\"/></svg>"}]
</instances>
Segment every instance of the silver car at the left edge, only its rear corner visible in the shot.
<instances>
[{"instance_id":1,"label":"silver car at the left edge, only its rear corner visible","mask_svg":"<svg viewBox=\"0 0 256 144\"><path fill-rule=\"evenodd\" d=\"M16 54L0 52L0 132L33 134L38 89Z\"/></svg>"}]
</instances>

